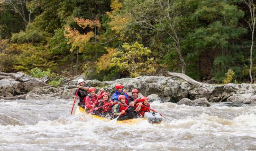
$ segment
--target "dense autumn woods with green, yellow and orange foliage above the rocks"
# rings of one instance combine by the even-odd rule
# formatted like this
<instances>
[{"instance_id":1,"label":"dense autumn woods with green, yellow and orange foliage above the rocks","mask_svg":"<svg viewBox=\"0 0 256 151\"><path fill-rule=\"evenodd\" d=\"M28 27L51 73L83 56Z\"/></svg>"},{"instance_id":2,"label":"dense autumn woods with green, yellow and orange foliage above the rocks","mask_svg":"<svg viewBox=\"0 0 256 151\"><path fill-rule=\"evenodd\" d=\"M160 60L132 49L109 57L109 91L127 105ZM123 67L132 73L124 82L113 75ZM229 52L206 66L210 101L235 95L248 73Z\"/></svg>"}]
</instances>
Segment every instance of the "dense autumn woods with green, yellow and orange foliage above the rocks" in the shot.
<instances>
[{"instance_id":1,"label":"dense autumn woods with green, yellow and orange foliage above the rocks","mask_svg":"<svg viewBox=\"0 0 256 151\"><path fill-rule=\"evenodd\" d=\"M252 0L0 0L0 72L254 83L254 9Z\"/></svg>"}]
</instances>

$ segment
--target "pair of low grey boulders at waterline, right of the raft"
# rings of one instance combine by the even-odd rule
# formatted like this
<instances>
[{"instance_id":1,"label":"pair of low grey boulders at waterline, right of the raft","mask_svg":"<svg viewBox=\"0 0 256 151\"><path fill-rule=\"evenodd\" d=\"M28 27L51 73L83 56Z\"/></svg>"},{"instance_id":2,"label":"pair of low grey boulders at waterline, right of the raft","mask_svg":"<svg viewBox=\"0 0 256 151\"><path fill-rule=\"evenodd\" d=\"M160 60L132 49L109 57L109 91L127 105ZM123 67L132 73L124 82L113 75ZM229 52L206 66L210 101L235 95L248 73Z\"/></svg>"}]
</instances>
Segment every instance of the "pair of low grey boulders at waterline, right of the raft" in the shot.
<instances>
[{"instance_id":1,"label":"pair of low grey boulders at waterline, right of the raft","mask_svg":"<svg viewBox=\"0 0 256 151\"><path fill-rule=\"evenodd\" d=\"M203 106L203 107L209 107L210 103L206 98L199 98L196 100L191 101L188 98L183 98L182 100L180 100L178 103L178 105L188 105L188 106Z\"/></svg>"}]
</instances>

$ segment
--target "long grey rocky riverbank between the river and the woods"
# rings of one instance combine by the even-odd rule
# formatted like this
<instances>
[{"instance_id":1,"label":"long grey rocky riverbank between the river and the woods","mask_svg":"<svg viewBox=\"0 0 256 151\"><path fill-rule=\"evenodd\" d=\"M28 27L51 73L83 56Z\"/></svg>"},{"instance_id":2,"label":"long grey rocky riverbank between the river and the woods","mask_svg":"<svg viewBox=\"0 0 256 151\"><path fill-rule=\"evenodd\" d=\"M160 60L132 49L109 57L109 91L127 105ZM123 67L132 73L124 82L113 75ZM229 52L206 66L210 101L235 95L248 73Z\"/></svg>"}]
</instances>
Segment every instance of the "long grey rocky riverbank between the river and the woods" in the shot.
<instances>
[{"instance_id":1,"label":"long grey rocky riverbank between the river and the woods","mask_svg":"<svg viewBox=\"0 0 256 151\"><path fill-rule=\"evenodd\" d=\"M77 79L55 88L23 73L0 73L0 98L73 99L76 83ZM104 88L110 94L115 92L115 84L120 83L128 92L134 88L138 89L141 95L148 96L151 101L174 102L179 105L210 106L209 102L226 102L229 106L256 104L256 84L201 84L210 90L206 91L174 76L140 76L105 82L87 80L85 83L98 90Z\"/></svg>"}]
</instances>

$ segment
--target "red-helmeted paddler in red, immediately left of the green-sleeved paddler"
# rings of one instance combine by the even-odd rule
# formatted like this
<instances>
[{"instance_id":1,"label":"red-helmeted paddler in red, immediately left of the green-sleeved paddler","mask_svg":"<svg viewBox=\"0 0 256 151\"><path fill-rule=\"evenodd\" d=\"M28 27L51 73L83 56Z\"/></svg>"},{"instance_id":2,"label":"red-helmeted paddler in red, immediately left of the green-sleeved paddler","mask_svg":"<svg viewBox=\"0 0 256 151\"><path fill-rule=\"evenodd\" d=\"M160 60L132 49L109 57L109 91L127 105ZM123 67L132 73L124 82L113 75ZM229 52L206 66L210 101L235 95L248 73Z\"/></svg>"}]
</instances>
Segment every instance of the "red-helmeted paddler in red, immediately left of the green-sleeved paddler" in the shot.
<instances>
[{"instance_id":1,"label":"red-helmeted paddler in red, immediately left of the green-sleeved paddler","mask_svg":"<svg viewBox=\"0 0 256 151\"><path fill-rule=\"evenodd\" d=\"M110 99L109 93L107 92L102 93L102 98L99 103L99 107L104 106L99 109L101 117L109 118L112 116L113 103L114 102Z\"/></svg>"}]
</instances>

